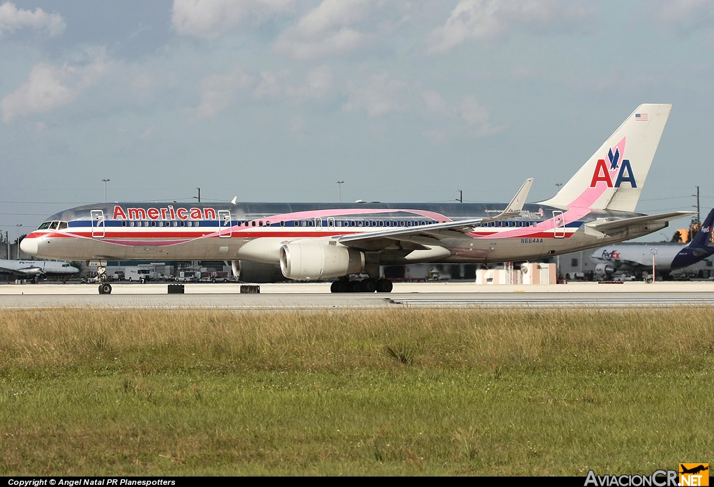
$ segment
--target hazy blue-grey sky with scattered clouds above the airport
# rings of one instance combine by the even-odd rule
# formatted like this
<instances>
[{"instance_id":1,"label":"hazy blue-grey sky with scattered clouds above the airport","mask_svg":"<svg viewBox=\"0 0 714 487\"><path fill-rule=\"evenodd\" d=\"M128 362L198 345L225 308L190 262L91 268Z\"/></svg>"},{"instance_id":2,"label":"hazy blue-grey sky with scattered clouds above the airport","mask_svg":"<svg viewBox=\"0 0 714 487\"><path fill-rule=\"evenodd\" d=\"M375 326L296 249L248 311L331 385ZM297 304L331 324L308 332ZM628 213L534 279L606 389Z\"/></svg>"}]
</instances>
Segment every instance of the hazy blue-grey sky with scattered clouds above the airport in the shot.
<instances>
[{"instance_id":1,"label":"hazy blue-grey sky with scattered clouds above the airport","mask_svg":"<svg viewBox=\"0 0 714 487\"><path fill-rule=\"evenodd\" d=\"M0 0L0 229L103 179L109 201L421 202L535 176L538 201L642 103L674 106L637 210L699 185L703 218L713 87L714 0Z\"/></svg>"}]
</instances>

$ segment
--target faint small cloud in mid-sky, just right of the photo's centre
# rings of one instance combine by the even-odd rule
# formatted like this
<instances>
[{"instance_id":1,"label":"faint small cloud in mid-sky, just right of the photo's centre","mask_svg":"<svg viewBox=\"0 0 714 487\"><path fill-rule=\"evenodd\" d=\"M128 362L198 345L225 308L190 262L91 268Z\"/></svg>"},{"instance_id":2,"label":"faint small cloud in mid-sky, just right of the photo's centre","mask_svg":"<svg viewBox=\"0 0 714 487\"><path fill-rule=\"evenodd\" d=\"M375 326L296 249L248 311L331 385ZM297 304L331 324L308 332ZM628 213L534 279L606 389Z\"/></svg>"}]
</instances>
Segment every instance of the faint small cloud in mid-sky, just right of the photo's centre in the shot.
<instances>
[{"instance_id":1,"label":"faint small cloud in mid-sky, just right of the photo's centre","mask_svg":"<svg viewBox=\"0 0 714 487\"><path fill-rule=\"evenodd\" d=\"M408 86L403 81L391 79L387 74L378 74L372 76L371 82L367 86L349 84L347 91L350 96L343 109L345 111L364 110L371 118L404 110L407 105L400 100L403 99L407 90Z\"/></svg>"}]
</instances>

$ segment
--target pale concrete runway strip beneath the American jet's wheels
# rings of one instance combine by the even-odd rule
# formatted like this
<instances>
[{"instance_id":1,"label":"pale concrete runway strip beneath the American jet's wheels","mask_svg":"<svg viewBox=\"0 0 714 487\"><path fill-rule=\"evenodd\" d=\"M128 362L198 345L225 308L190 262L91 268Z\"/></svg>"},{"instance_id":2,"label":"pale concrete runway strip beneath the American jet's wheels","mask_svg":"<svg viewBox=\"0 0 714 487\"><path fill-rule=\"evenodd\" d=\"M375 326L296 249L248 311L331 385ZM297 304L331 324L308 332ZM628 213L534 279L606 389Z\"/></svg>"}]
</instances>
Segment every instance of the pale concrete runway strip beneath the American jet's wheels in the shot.
<instances>
[{"instance_id":1,"label":"pale concrete runway strip beneath the American jet's wheels","mask_svg":"<svg viewBox=\"0 0 714 487\"><path fill-rule=\"evenodd\" d=\"M0 286L0 309L226 309L333 310L400 308L668 308L714 306L714 283L570 283L552 286L476 286L473 283L396 283L392 293L330 293L329 283L186 284L168 294L165 283L114 284L99 295L94 284Z\"/></svg>"}]
</instances>

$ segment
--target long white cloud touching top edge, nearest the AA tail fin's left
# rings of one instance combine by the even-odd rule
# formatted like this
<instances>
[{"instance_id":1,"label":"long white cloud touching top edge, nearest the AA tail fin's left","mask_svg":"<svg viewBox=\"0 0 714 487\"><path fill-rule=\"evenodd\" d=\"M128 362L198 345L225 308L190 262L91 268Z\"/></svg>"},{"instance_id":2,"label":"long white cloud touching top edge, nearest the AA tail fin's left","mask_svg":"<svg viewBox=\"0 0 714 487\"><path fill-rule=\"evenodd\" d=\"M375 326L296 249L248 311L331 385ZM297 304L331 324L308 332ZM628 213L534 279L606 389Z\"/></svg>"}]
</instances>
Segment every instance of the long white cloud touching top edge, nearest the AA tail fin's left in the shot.
<instances>
[{"instance_id":1,"label":"long white cloud touching top edge, nearest the AA tail fin's left","mask_svg":"<svg viewBox=\"0 0 714 487\"><path fill-rule=\"evenodd\" d=\"M441 53L471 39L495 39L520 26L562 29L564 21L589 14L587 6L572 0L461 0L446 24L431 32L427 51Z\"/></svg>"}]
</instances>

